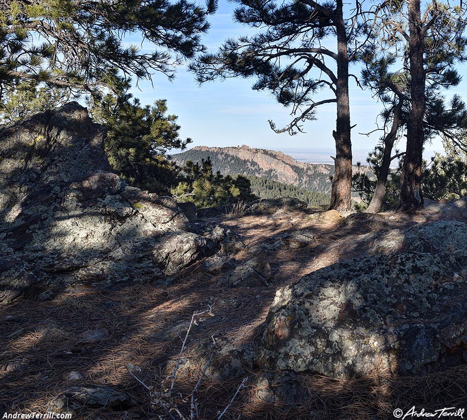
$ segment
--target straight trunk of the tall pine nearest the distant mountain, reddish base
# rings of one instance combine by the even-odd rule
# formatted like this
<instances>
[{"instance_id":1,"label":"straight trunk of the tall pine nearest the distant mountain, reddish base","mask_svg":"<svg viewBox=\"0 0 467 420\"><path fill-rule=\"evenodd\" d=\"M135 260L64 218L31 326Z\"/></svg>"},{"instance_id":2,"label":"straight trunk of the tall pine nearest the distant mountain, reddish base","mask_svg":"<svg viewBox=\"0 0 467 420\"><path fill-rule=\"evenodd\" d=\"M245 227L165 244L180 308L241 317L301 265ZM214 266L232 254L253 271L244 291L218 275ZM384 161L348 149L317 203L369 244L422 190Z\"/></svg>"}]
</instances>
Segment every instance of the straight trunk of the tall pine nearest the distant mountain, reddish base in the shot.
<instances>
[{"instance_id":1,"label":"straight trunk of the tall pine nearest the distant mountain, reddish base","mask_svg":"<svg viewBox=\"0 0 467 420\"><path fill-rule=\"evenodd\" d=\"M352 209L352 145L350 141L349 59L342 0L337 0L336 15L339 20L335 22L337 32L337 121L336 129L332 132L336 146L336 157L329 210L345 213Z\"/></svg>"}]
</instances>

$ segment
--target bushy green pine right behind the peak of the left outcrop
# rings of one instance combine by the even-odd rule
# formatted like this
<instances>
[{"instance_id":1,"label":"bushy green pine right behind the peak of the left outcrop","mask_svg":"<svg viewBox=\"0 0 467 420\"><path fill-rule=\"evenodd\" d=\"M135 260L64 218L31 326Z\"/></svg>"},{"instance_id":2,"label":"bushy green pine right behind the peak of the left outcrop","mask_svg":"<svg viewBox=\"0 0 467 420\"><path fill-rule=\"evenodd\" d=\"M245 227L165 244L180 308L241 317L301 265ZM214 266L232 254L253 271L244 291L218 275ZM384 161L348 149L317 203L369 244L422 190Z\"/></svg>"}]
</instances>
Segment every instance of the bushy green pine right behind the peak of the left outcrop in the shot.
<instances>
[{"instance_id":1,"label":"bushy green pine right behind the peak of the left outcrop","mask_svg":"<svg viewBox=\"0 0 467 420\"><path fill-rule=\"evenodd\" d=\"M158 194L167 194L179 181L180 168L167 153L191 142L179 137L178 117L167 110L165 99L141 106L128 95L106 95L93 110L94 119L107 128L104 150L112 168L130 184Z\"/></svg>"}]
</instances>

